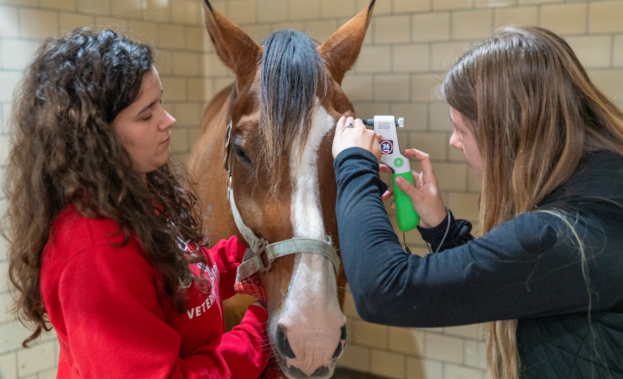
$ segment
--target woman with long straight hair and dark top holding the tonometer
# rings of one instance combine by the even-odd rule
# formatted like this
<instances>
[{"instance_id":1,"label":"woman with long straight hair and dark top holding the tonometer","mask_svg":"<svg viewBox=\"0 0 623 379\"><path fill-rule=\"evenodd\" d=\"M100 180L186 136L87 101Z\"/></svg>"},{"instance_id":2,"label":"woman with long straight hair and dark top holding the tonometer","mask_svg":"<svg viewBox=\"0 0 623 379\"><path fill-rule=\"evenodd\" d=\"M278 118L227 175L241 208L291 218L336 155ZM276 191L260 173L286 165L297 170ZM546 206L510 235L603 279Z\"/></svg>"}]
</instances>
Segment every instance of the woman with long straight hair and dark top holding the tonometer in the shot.
<instances>
[{"instance_id":1,"label":"woman with long straight hair and dark top holding the tonometer","mask_svg":"<svg viewBox=\"0 0 623 379\"><path fill-rule=\"evenodd\" d=\"M406 255L383 207L377 136L341 119L336 209L359 315L411 327L488 322L495 379L623 378L623 112L569 45L538 27L476 43L440 89L450 145L482 183L483 235L445 209L429 156L406 150L422 173L415 186L396 183L422 238L440 248Z\"/></svg>"}]
</instances>

